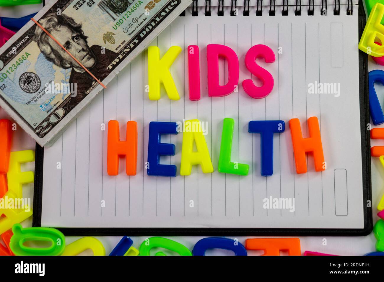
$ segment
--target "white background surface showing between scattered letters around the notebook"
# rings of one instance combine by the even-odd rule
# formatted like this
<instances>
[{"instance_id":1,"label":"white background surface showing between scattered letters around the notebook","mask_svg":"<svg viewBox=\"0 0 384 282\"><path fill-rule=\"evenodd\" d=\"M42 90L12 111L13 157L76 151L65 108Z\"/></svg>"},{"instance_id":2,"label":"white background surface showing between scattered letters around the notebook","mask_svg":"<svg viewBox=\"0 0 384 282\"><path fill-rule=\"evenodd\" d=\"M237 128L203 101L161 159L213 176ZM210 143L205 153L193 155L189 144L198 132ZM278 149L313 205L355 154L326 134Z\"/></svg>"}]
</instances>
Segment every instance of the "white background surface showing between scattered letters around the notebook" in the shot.
<instances>
[{"instance_id":1,"label":"white background surface showing between scattered letters around the notebook","mask_svg":"<svg viewBox=\"0 0 384 282\"><path fill-rule=\"evenodd\" d=\"M11 16L11 17L21 17L25 15L29 15L30 13L37 12L41 5L21 5L16 7L1 7L0 8L0 16ZM371 61L371 59L370 59ZM370 69L379 69L376 64L370 64ZM383 69L380 67L380 69ZM384 95L381 95L379 92L384 90L384 88L380 89L377 87L377 92L379 96L379 100L382 101ZM356 113L357 114L357 113ZM8 115L0 109L0 118L9 118ZM371 124L373 124L371 122ZM380 127L380 126L379 126ZM371 140L372 146L373 145L384 145L382 140ZM14 133L13 136L13 147L12 151L17 150L35 150L35 142L25 133L23 130L19 129ZM33 170L33 163L27 164L24 166L25 170ZM377 210L376 206L379 203L379 200L381 199L381 196L384 193L384 177L383 172L384 168L382 167L381 163L379 162L378 158L372 158L371 161L371 167L372 167L372 204L373 204L373 212L374 212L374 222L377 221ZM23 193L24 197L32 196L33 194L33 185L24 185L23 187ZM24 226L31 226L31 218L23 222ZM129 236L129 234L127 234ZM151 234L147 234L147 236L141 236L141 237L131 237L134 244L133 246L137 249L139 248L140 244L144 239L147 237L151 237ZM73 242L74 240L78 239L79 237L66 237L66 244ZM108 255L109 252L112 251L114 246L119 242L121 239L120 236L97 236L97 239L99 239L105 249L106 254ZM194 236L184 236L184 237L169 237L170 239L173 239L177 242L180 242L181 244L184 244L187 248L190 250L193 249L194 244L201 239L202 237L194 237ZM235 237L231 237L235 238ZM323 246L323 239L326 239L326 246ZM246 237L237 237L239 242L244 244L244 241ZM363 255L367 252L373 252L375 251L375 242L376 239L374 238L374 235L371 233L369 236L364 237L300 237L301 242L301 251L302 253L304 251L317 251L317 252L324 252L329 254L338 254L338 255ZM167 253L167 252L166 252ZM88 253L87 253L88 254ZM223 251L223 250L215 250L215 251L208 251L207 254L232 254L232 252L229 251ZM254 254L260 254L260 252L257 251L248 251L249 255Z\"/></svg>"}]
</instances>

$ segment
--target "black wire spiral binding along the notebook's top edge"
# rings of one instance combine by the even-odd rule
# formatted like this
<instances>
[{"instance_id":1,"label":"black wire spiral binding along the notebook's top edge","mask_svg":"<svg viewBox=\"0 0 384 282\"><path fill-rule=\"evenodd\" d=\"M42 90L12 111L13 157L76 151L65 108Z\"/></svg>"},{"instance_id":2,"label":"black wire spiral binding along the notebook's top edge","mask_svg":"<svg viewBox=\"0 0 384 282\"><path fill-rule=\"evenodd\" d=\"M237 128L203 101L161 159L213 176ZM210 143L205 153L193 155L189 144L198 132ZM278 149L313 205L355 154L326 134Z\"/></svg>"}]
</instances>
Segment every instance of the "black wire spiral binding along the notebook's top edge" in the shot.
<instances>
[{"instance_id":1,"label":"black wire spiral binding along the notebook's top edge","mask_svg":"<svg viewBox=\"0 0 384 282\"><path fill-rule=\"evenodd\" d=\"M288 0L279 0L283 2L283 10L281 11L282 16L288 16ZM333 15L340 15L340 0L334 0L334 9ZM353 14L353 2L352 0L347 0L347 15ZM211 2L212 0L205 0L205 16L211 15ZM241 6L241 5L240 5ZM308 0L308 16L314 15L314 0ZM231 0L231 16L237 16L237 0ZM276 13L276 0L270 0L269 3L269 15L275 16ZM263 0L256 0L256 15L262 16L263 14ZM321 10L320 15L327 14L327 0L321 0ZM198 0L192 0L192 16L198 16ZM224 0L218 0L218 16L224 16ZM250 0L244 0L243 16L250 15ZM295 16L301 15L301 0L296 0L295 4ZM180 13L180 16L185 16L185 11Z\"/></svg>"}]
</instances>

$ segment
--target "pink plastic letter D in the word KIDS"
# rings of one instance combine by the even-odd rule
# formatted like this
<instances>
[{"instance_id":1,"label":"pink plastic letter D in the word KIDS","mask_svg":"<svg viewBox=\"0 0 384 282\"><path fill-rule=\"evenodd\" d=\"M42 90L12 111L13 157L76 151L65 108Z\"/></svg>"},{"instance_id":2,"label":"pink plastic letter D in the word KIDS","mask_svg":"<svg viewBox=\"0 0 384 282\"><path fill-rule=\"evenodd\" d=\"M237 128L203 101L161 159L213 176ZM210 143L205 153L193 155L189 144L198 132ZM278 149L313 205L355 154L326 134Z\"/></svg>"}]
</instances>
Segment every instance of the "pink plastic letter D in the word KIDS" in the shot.
<instances>
[{"instance_id":1,"label":"pink plastic letter D in the word KIDS","mask_svg":"<svg viewBox=\"0 0 384 282\"><path fill-rule=\"evenodd\" d=\"M219 84L218 59L224 58L228 63L228 82ZM239 82L239 61L235 51L225 45L207 45L208 96L223 97L231 94Z\"/></svg>"}]
</instances>

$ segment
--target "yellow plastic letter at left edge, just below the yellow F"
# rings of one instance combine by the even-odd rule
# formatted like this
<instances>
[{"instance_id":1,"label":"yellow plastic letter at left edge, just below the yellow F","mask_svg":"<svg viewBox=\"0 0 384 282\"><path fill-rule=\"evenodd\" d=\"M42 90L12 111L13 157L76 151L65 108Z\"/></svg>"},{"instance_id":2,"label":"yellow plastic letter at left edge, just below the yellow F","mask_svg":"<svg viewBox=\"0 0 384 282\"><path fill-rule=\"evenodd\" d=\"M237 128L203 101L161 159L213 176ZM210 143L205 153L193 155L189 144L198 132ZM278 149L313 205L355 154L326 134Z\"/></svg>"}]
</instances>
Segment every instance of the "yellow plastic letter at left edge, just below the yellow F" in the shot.
<instances>
[{"instance_id":1,"label":"yellow plastic letter at left edge, just below the yellow F","mask_svg":"<svg viewBox=\"0 0 384 282\"><path fill-rule=\"evenodd\" d=\"M7 191L5 193L4 198L8 199L16 199L21 198L16 195L14 191ZM0 218L0 234L4 233L5 231L12 228L13 224L20 223L24 221L25 219L32 216L33 211L30 208L30 206L24 206L22 208L2 208L2 199L0 199L0 214L4 214L5 217Z\"/></svg>"}]
</instances>

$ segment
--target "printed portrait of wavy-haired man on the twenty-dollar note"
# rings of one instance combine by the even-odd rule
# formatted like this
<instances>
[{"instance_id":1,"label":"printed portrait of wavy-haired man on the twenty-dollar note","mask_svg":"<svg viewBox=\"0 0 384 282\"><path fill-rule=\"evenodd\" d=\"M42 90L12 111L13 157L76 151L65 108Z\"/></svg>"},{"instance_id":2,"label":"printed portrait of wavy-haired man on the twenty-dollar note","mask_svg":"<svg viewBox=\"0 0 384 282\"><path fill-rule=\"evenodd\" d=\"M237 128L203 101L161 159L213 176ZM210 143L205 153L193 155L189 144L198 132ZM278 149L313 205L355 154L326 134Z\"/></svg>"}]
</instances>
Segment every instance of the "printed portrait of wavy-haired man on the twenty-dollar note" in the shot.
<instances>
[{"instance_id":1,"label":"printed portrait of wavy-haired man on the twenty-dollar note","mask_svg":"<svg viewBox=\"0 0 384 282\"><path fill-rule=\"evenodd\" d=\"M96 78L102 81L108 76L110 71L107 67L118 56L118 53L100 45L89 47L88 36L84 35L80 23L76 23L70 16L65 14L58 16L56 13L49 13L39 22L56 40L63 42L64 48ZM96 81L39 26L36 26L33 40L37 42L41 53L48 61L63 69L71 68L69 86L74 85L75 87L72 89L75 91L67 98L69 102L65 104L64 108L66 112L70 112L83 100L84 96L88 94L88 89Z\"/></svg>"}]
</instances>

